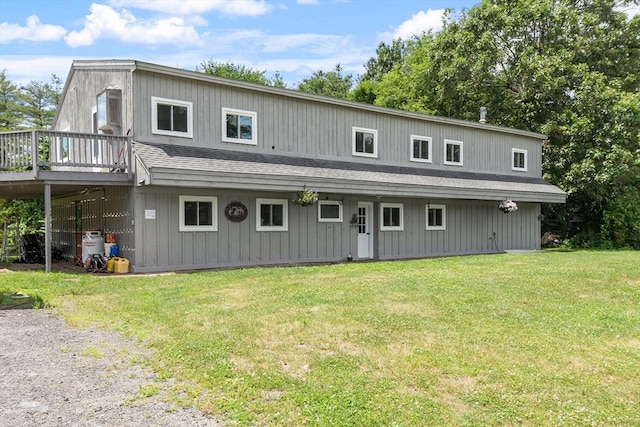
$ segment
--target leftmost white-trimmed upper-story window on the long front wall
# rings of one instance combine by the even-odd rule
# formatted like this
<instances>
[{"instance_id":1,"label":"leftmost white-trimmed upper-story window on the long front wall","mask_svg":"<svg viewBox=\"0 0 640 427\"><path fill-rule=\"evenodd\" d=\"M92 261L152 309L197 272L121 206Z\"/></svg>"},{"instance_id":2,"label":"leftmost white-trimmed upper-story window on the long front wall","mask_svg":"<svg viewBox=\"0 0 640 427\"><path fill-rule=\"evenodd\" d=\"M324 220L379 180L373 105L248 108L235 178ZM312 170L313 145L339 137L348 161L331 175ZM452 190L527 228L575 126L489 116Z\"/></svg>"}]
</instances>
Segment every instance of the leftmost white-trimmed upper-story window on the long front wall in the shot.
<instances>
[{"instance_id":1,"label":"leftmost white-trimmed upper-story window on the long front wall","mask_svg":"<svg viewBox=\"0 0 640 427\"><path fill-rule=\"evenodd\" d=\"M193 103L152 96L151 121L155 134L193 138Z\"/></svg>"}]
</instances>

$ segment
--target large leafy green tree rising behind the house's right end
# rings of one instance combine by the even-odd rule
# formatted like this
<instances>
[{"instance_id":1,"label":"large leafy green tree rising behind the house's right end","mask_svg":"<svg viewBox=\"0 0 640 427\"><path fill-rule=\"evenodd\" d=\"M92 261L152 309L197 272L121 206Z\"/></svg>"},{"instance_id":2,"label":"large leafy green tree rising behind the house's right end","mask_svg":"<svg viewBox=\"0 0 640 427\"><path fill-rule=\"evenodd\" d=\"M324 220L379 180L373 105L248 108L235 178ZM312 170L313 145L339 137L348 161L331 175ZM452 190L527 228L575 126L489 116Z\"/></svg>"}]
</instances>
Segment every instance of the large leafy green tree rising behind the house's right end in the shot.
<instances>
[{"instance_id":1,"label":"large leafy green tree rising behind the house's right end","mask_svg":"<svg viewBox=\"0 0 640 427\"><path fill-rule=\"evenodd\" d=\"M614 246L638 246L640 16L621 11L631 4L482 0L360 84L377 105L473 121L487 107L489 122L549 135L544 176L568 200L545 207L545 226L571 234L580 220Z\"/></svg>"}]
</instances>

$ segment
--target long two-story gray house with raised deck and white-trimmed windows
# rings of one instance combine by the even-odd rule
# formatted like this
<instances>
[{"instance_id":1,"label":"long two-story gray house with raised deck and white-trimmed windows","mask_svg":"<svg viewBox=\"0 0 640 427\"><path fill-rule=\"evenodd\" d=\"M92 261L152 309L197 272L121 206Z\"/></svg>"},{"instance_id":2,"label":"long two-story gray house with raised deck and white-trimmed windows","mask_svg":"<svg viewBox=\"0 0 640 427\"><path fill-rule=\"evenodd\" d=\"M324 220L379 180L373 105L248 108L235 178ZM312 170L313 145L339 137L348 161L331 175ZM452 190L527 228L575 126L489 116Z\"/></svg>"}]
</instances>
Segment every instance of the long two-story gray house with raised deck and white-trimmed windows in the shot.
<instances>
[{"instance_id":1,"label":"long two-story gray house with raised deck and white-trimmed windows","mask_svg":"<svg viewBox=\"0 0 640 427\"><path fill-rule=\"evenodd\" d=\"M69 258L86 230L112 233L133 272L533 250L541 203L566 197L541 178L544 139L75 61L52 131L0 135L0 197L44 195L47 242ZM302 190L318 201L295 204Z\"/></svg>"}]
</instances>

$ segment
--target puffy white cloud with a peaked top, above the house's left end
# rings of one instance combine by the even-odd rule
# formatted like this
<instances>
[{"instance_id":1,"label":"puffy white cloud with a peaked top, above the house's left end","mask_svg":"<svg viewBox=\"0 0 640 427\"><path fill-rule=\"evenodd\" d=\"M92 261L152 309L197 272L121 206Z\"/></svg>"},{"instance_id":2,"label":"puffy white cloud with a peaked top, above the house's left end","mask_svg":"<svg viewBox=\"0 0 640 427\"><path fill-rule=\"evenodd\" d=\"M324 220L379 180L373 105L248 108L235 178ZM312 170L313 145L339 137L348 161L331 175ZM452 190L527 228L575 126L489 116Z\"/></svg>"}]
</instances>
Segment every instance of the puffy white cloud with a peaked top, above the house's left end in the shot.
<instances>
[{"instance_id":1,"label":"puffy white cloud with a peaked top, above the house's left end","mask_svg":"<svg viewBox=\"0 0 640 427\"><path fill-rule=\"evenodd\" d=\"M125 9L118 12L94 3L84 28L70 32L65 41L70 47L79 47L90 46L100 39L151 45L202 45L197 31L182 18L140 21Z\"/></svg>"}]
</instances>

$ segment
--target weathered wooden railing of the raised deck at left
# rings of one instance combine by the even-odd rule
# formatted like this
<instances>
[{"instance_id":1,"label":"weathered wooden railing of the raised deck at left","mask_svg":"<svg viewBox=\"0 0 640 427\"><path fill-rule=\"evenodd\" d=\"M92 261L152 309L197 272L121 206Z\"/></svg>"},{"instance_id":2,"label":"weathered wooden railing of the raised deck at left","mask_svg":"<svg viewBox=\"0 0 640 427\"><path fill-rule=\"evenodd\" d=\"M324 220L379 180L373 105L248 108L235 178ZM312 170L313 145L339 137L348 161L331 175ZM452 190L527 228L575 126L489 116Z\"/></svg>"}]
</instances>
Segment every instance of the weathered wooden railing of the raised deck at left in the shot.
<instances>
[{"instance_id":1,"label":"weathered wooden railing of the raised deck at left","mask_svg":"<svg viewBox=\"0 0 640 427\"><path fill-rule=\"evenodd\" d=\"M131 138L59 131L0 133L0 173L38 170L131 174Z\"/></svg>"}]
</instances>

